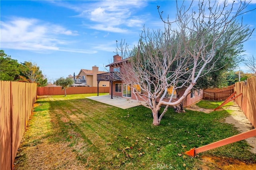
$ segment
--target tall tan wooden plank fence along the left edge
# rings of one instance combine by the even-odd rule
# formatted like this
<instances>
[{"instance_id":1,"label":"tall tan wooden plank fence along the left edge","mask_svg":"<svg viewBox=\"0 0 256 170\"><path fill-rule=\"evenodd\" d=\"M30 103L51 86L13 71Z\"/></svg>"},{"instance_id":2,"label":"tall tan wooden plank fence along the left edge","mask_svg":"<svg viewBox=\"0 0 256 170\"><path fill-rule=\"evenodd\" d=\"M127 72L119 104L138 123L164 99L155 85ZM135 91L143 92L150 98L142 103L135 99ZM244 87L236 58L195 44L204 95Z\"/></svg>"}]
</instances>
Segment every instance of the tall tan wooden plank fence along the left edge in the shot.
<instances>
[{"instance_id":1,"label":"tall tan wooden plank fence along the left edge","mask_svg":"<svg viewBox=\"0 0 256 170\"><path fill-rule=\"evenodd\" d=\"M32 107L36 83L0 81L0 170L13 169Z\"/></svg>"}]
</instances>

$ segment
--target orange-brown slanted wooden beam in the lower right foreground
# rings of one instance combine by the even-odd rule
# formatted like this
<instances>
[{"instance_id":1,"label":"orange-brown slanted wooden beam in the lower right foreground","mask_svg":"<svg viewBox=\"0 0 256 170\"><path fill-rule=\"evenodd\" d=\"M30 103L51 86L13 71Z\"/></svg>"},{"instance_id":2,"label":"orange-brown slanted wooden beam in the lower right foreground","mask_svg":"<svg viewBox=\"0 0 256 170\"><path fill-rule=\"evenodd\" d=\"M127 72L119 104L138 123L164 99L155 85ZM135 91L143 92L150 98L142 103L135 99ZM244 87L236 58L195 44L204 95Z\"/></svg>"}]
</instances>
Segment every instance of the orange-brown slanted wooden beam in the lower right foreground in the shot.
<instances>
[{"instance_id":1,"label":"orange-brown slanted wooden beam in the lower right foreground","mask_svg":"<svg viewBox=\"0 0 256 170\"><path fill-rule=\"evenodd\" d=\"M240 141L240 140L244 140L244 139L247 139L247 138L250 138L250 137L253 137L253 136L256 136L256 129L249 130L247 132L243 132L243 133L237 134L235 136L231 136L229 138L225 138L225 139L219 140L217 142L213 142L211 144L201 146L199 148L192 148L189 151L185 152L185 154L187 154L188 156L195 156L195 154L198 154L200 152L204 152L204 151L207 151L207 150L218 148L220 146L224 146L226 144L230 144L230 143L234 143L234 142L237 142L237 141Z\"/></svg>"}]
</instances>

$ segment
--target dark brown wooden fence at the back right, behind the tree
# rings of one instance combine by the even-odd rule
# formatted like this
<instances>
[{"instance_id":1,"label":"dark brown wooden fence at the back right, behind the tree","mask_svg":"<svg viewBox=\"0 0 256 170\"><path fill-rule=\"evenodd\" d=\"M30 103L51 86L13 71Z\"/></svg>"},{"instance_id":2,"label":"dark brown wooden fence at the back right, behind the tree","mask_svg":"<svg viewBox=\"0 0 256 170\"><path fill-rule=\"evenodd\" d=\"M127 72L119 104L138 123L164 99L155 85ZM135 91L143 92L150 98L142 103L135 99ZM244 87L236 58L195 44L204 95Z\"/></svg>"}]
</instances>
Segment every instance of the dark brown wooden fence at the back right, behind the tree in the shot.
<instances>
[{"instance_id":1,"label":"dark brown wooden fence at the back right, behind the tree","mask_svg":"<svg viewBox=\"0 0 256 170\"><path fill-rule=\"evenodd\" d=\"M234 85L222 89L204 89L203 99L222 101L226 100L232 93L234 93Z\"/></svg>"}]
</instances>

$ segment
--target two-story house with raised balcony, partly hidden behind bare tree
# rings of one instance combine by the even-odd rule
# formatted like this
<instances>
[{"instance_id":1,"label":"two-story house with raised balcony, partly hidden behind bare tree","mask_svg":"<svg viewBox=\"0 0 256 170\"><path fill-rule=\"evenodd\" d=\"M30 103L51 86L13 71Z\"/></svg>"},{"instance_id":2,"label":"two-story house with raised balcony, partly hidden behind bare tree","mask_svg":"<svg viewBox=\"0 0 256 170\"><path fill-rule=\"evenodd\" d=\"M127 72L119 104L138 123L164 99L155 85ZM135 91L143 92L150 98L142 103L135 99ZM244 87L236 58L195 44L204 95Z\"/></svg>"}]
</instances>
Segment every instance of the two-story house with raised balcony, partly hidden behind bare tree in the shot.
<instances>
[{"instance_id":1,"label":"two-story house with raised balcony, partly hidden behind bare tree","mask_svg":"<svg viewBox=\"0 0 256 170\"><path fill-rule=\"evenodd\" d=\"M110 67L109 70L110 72L108 73L102 73L97 75L97 81L109 81L110 83L110 95L111 99L112 96L119 96L119 97L125 97L125 98L130 98L130 99L136 99L133 90L134 88L137 87L130 87L130 85L125 84L123 81L118 80L118 75L116 72L120 72L120 69L122 69L122 57L119 55L114 55L113 56L114 62L111 64L106 65L106 67ZM138 90L138 89L137 89ZM168 89L169 93L172 93L172 89ZM180 91L180 96L183 95L185 89ZM169 101L168 97L170 95L167 95L166 98L164 99L165 101ZM200 99L203 98L203 90L196 90L196 91L191 91L190 95L186 97L184 100L183 106L189 106ZM174 92L174 97L173 100L175 101L176 99L176 92Z\"/></svg>"}]
</instances>

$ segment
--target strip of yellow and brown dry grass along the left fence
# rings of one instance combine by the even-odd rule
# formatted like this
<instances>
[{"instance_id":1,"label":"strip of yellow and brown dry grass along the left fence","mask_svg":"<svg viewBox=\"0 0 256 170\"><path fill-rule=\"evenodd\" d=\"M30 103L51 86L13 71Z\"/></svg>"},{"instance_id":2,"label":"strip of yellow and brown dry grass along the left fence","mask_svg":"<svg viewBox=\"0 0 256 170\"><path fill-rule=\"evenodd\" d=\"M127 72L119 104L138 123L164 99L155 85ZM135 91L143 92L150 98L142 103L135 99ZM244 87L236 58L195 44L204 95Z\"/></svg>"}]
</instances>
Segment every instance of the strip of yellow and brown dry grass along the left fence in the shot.
<instances>
[{"instance_id":1,"label":"strip of yellow and brown dry grass along the left fence","mask_svg":"<svg viewBox=\"0 0 256 170\"><path fill-rule=\"evenodd\" d=\"M61 129L56 126L56 117L50 115L49 106L45 104L38 110L35 108L28 123L14 169L84 169L84 165L77 160L76 153L68 147L67 142L52 142L54 134ZM67 122L65 117L61 120Z\"/></svg>"}]
</instances>

